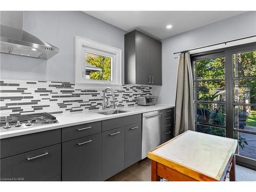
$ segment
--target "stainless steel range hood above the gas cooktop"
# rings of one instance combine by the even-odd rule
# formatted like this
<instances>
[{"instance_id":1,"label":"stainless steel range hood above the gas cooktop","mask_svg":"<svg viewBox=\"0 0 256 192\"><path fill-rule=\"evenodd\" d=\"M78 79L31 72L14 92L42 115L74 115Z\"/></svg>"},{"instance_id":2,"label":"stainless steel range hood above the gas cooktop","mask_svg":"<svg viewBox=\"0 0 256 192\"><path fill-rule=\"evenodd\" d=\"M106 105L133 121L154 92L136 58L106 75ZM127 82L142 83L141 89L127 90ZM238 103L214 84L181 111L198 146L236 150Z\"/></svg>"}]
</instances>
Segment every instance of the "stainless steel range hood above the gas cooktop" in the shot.
<instances>
[{"instance_id":1,"label":"stainless steel range hood above the gas cooktop","mask_svg":"<svg viewBox=\"0 0 256 192\"><path fill-rule=\"evenodd\" d=\"M49 59L59 49L23 30L23 11L1 11L0 50L2 53Z\"/></svg>"}]
</instances>

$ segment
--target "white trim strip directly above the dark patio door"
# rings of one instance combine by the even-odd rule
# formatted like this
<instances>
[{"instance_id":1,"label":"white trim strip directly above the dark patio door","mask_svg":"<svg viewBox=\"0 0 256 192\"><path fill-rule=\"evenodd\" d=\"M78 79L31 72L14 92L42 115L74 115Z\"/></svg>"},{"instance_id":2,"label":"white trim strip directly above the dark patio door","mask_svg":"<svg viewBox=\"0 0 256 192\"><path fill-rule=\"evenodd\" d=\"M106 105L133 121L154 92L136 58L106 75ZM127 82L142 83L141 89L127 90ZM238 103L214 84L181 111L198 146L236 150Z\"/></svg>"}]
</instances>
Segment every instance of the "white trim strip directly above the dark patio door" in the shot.
<instances>
[{"instance_id":1,"label":"white trim strip directly above the dark patio door","mask_svg":"<svg viewBox=\"0 0 256 192\"><path fill-rule=\"evenodd\" d=\"M222 48L226 48L226 47L248 44L250 42L256 42L256 37L249 37L249 38L240 39L240 40L236 40L236 41L232 41L232 42L227 42L226 45L223 43L221 45L216 45L216 46L211 46L211 47L206 47L206 48L201 48L201 49L195 49L195 50L189 51L189 53L190 54L201 53L201 52L211 51L211 50L215 50L215 49L222 49Z\"/></svg>"}]
</instances>

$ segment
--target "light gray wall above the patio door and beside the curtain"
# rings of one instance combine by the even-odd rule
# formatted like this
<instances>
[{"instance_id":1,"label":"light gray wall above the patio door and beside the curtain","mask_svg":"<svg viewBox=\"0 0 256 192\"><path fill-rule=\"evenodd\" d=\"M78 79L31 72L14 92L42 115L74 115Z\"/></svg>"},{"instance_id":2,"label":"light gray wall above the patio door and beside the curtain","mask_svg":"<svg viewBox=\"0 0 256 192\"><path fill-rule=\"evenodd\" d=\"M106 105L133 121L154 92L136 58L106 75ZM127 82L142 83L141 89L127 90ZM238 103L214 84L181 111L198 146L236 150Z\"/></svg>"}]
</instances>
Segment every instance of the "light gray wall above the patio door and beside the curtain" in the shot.
<instances>
[{"instance_id":1,"label":"light gray wall above the patio door and beside the curtain","mask_svg":"<svg viewBox=\"0 0 256 192\"><path fill-rule=\"evenodd\" d=\"M253 11L162 40L162 86L153 87L153 95L159 95L158 103L175 103L179 55L174 52L255 34L256 11Z\"/></svg>"}]
</instances>

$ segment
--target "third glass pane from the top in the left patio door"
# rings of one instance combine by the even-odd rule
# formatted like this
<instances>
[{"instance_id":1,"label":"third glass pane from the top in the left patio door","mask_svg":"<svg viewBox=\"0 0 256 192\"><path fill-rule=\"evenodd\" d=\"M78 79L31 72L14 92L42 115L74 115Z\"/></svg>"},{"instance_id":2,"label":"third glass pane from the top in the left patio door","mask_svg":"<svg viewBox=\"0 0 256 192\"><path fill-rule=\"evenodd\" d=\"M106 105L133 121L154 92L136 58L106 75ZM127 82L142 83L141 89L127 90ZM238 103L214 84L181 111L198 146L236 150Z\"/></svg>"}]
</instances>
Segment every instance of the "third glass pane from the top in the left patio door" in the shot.
<instances>
[{"instance_id":1,"label":"third glass pane from the top in the left patio door","mask_svg":"<svg viewBox=\"0 0 256 192\"><path fill-rule=\"evenodd\" d=\"M198 103L197 121L225 126L225 105Z\"/></svg>"}]
</instances>

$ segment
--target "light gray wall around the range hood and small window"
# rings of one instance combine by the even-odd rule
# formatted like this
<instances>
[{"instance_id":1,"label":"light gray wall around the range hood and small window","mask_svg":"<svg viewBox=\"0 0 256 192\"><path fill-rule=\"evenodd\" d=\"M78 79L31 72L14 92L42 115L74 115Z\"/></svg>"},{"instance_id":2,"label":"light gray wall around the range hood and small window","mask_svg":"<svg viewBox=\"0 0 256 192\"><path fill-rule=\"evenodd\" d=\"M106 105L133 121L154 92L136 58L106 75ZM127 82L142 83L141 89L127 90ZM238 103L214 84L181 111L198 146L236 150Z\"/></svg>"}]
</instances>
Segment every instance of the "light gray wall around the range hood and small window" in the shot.
<instances>
[{"instance_id":1,"label":"light gray wall around the range hood and small window","mask_svg":"<svg viewBox=\"0 0 256 192\"><path fill-rule=\"evenodd\" d=\"M49 60L1 53L2 79L74 82L75 36L122 49L125 31L80 11L25 11L24 30L60 49ZM123 73L124 60L122 60ZM123 77L122 77L123 82Z\"/></svg>"}]
</instances>

